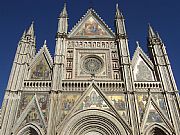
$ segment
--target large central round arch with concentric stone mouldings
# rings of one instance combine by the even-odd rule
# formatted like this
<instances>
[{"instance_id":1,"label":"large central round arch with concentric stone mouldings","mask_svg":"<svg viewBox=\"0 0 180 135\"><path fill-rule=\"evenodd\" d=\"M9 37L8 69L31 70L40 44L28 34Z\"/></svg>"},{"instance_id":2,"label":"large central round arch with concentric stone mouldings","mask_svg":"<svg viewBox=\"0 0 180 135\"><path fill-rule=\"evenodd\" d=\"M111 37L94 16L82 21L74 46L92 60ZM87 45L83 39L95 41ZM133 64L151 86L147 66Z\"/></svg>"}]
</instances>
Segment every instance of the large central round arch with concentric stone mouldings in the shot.
<instances>
[{"instance_id":1,"label":"large central round arch with concentric stone mouldings","mask_svg":"<svg viewBox=\"0 0 180 135\"><path fill-rule=\"evenodd\" d=\"M123 124L111 113L84 110L67 119L58 135L128 135Z\"/></svg>"}]
</instances>

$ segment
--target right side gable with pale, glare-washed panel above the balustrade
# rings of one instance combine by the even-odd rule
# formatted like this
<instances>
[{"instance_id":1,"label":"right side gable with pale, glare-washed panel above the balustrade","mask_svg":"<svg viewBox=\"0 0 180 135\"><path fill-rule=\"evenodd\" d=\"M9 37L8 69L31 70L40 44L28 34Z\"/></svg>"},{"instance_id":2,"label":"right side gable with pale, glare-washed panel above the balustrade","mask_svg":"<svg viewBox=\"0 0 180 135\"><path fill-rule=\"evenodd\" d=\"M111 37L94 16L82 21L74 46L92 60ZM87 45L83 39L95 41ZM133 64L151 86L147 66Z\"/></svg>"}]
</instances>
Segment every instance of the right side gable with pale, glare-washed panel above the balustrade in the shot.
<instances>
[{"instance_id":1,"label":"right side gable with pale, glare-washed panel above the balustrade","mask_svg":"<svg viewBox=\"0 0 180 135\"><path fill-rule=\"evenodd\" d=\"M139 46L132 59L132 68L135 81L155 81L154 65Z\"/></svg>"}]
</instances>

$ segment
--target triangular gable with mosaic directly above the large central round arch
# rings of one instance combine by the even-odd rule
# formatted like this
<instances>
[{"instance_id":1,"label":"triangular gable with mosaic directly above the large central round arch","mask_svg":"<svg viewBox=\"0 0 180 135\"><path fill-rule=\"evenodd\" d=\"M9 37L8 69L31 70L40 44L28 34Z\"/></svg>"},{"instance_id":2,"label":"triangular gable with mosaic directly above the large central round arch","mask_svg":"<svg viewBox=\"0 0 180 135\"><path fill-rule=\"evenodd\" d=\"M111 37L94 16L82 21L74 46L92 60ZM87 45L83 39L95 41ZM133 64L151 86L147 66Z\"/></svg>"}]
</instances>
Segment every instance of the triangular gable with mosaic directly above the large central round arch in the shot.
<instances>
[{"instance_id":1,"label":"triangular gable with mosaic directly above the large central round arch","mask_svg":"<svg viewBox=\"0 0 180 135\"><path fill-rule=\"evenodd\" d=\"M73 115L86 110L102 110L117 116L129 128L126 120L119 114L111 100L102 92L95 82L92 82L86 91L79 97L69 114L58 126L65 124Z\"/></svg>"}]
</instances>

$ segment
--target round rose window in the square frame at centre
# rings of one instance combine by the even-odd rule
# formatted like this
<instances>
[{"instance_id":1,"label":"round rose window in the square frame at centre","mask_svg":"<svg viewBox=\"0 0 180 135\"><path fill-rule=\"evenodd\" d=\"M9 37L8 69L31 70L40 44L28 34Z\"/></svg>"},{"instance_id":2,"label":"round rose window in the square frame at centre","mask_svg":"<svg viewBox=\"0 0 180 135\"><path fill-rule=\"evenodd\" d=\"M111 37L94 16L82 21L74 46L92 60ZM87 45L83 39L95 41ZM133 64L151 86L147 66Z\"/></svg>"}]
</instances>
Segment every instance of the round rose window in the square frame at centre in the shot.
<instances>
[{"instance_id":1,"label":"round rose window in the square frame at centre","mask_svg":"<svg viewBox=\"0 0 180 135\"><path fill-rule=\"evenodd\" d=\"M83 70L88 74L96 74L101 71L103 60L98 56L88 56L82 62Z\"/></svg>"}]
</instances>

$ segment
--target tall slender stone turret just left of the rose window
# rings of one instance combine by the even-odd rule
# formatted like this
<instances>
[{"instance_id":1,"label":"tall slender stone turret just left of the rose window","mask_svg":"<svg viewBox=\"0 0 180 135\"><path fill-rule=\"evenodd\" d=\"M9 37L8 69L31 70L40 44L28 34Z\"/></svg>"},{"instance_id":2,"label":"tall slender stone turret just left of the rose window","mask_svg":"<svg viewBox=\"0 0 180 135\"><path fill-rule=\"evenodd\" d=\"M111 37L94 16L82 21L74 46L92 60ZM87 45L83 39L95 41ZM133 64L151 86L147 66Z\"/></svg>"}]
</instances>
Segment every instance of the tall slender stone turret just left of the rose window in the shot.
<instances>
[{"instance_id":1,"label":"tall slender stone turret just left of the rose window","mask_svg":"<svg viewBox=\"0 0 180 135\"><path fill-rule=\"evenodd\" d=\"M66 10L66 3L58 18L58 30L56 35L56 48L54 55L54 67L53 67L53 82L51 90L51 103L48 122L48 135L55 135L55 126L60 120L60 98L62 91L62 80L64 79L64 64L65 64L65 52L67 42L68 31L68 15Z\"/></svg>"}]
</instances>

